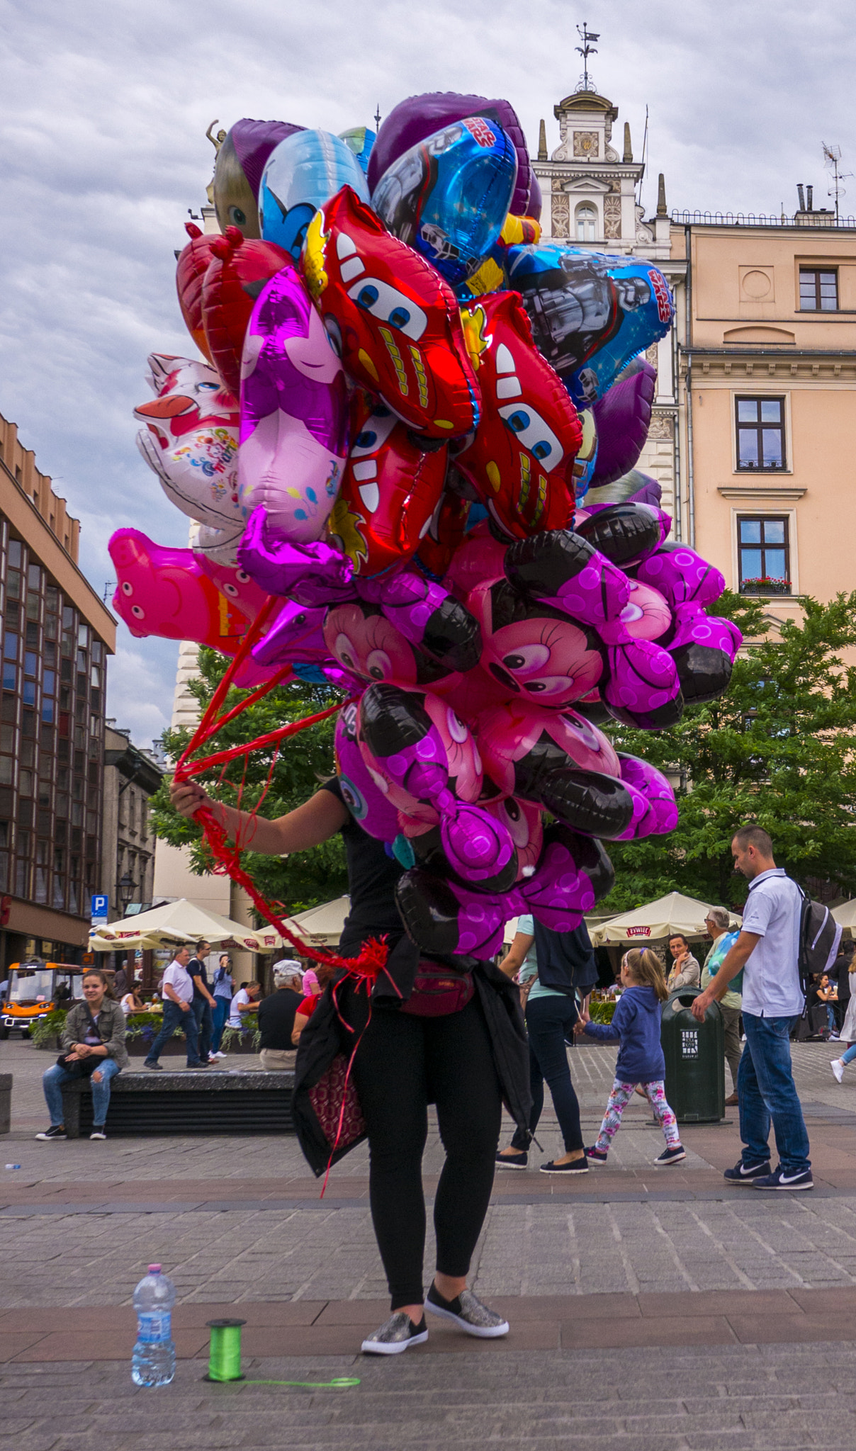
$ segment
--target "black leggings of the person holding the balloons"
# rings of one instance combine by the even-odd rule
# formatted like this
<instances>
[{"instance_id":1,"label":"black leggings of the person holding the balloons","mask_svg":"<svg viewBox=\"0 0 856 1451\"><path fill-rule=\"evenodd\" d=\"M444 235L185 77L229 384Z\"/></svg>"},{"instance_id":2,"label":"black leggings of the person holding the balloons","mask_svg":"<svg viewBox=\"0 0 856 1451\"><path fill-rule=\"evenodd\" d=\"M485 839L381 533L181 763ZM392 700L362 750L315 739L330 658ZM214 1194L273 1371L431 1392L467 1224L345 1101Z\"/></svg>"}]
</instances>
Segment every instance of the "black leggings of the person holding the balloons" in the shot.
<instances>
[{"instance_id":1,"label":"black leggings of the person holding the balloons","mask_svg":"<svg viewBox=\"0 0 856 1451\"><path fill-rule=\"evenodd\" d=\"M437 1104L445 1164L434 1200L437 1270L466 1275L485 1223L502 1100L482 1008L448 1017L374 1008L354 1061L369 1126L369 1191L392 1309L419 1304L425 1287L422 1152Z\"/></svg>"}]
</instances>

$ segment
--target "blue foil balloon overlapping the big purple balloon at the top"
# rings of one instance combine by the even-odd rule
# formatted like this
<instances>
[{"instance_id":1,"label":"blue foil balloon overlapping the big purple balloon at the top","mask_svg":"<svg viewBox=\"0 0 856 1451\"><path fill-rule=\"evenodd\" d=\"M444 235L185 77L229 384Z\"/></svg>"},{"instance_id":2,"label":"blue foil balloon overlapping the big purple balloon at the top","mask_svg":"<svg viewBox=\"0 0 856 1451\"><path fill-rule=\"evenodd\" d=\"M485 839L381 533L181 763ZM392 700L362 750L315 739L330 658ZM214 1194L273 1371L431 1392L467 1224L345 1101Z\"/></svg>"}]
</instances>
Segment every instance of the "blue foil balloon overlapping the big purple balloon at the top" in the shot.
<instances>
[{"instance_id":1,"label":"blue foil balloon overlapping the big purple balloon at the top","mask_svg":"<svg viewBox=\"0 0 856 1451\"><path fill-rule=\"evenodd\" d=\"M499 239L514 196L517 152L502 126L467 116L405 151L371 206L393 237L458 286Z\"/></svg>"}]
</instances>

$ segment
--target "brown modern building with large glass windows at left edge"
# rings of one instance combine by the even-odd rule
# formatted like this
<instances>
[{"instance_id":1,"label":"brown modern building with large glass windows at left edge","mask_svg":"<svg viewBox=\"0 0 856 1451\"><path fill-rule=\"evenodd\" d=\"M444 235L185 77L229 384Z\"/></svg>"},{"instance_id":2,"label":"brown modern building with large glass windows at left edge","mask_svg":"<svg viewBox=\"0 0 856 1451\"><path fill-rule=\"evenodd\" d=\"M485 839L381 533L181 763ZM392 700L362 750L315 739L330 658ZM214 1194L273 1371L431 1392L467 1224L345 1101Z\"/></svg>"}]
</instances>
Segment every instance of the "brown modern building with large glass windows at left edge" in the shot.
<instances>
[{"instance_id":1,"label":"brown modern building with large glass windows at left edge","mask_svg":"<svg viewBox=\"0 0 856 1451\"><path fill-rule=\"evenodd\" d=\"M0 418L0 962L71 959L102 891L104 685L116 621L80 525Z\"/></svg>"}]
</instances>

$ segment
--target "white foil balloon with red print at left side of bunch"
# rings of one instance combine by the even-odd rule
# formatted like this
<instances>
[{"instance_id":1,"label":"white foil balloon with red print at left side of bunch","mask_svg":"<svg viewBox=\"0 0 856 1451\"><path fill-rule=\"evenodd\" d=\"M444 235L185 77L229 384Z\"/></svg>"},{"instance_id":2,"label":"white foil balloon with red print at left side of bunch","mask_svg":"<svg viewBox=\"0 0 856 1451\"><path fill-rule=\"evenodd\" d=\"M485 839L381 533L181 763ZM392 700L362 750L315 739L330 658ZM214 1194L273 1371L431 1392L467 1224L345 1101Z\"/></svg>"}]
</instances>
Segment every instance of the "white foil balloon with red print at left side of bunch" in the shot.
<instances>
[{"instance_id":1,"label":"white foil balloon with red print at left side of bunch","mask_svg":"<svg viewBox=\"0 0 856 1451\"><path fill-rule=\"evenodd\" d=\"M148 366L157 398L133 409L145 424L136 447L176 508L216 530L213 547L234 557L245 522L238 502L236 402L206 363L152 353Z\"/></svg>"}]
</instances>

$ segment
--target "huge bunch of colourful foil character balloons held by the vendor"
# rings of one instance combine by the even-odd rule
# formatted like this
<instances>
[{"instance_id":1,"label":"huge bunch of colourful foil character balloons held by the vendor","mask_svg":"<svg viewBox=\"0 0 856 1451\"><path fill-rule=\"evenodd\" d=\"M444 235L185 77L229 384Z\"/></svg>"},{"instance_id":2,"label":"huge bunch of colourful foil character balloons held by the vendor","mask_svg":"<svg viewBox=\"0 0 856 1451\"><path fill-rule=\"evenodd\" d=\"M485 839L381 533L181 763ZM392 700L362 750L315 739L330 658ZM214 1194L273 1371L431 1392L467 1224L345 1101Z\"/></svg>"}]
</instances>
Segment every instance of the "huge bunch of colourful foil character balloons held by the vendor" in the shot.
<instances>
[{"instance_id":1,"label":"huge bunch of colourful foil character balloons held by the vendor","mask_svg":"<svg viewBox=\"0 0 856 1451\"><path fill-rule=\"evenodd\" d=\"M239 120L213 197L177 266L200 357L154 354L135 412L192 546L119 530L115 607L235 654L276 596L235 683L342 689L342 789L415 942L569 930L612 885L602 843L678 821L599 726L676 724L740 646L635 469L667 281L543 244L519 122L482 96L411 97L376 136Z\"/></svg>"}]
</instances>

